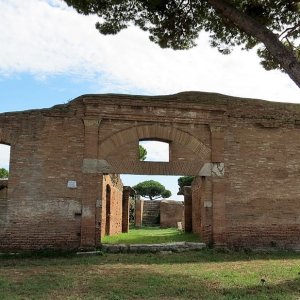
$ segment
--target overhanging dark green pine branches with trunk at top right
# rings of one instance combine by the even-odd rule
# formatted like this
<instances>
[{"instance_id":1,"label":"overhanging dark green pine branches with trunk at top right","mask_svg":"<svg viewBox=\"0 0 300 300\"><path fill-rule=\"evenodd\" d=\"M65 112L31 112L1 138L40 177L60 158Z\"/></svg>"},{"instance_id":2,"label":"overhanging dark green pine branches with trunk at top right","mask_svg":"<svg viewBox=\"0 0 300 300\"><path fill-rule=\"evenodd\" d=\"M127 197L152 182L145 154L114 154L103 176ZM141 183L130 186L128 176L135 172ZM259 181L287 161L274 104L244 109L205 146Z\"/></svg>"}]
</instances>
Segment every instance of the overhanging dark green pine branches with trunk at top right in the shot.
<instances>
[{"instance_id":1,"label":"overhanging dark green pine branches with trunk at top right","mask_svg":"<svg viewBox=\"0 0 300 300\"><path fill-rule=\"evenodd\" d=\"M64 0L97 14L102 34L134 24L162 48L188 49L201 31L221 53L254 47L266 70L280 69L300 87L300 0Z\"/></svg>"}]
</instances>

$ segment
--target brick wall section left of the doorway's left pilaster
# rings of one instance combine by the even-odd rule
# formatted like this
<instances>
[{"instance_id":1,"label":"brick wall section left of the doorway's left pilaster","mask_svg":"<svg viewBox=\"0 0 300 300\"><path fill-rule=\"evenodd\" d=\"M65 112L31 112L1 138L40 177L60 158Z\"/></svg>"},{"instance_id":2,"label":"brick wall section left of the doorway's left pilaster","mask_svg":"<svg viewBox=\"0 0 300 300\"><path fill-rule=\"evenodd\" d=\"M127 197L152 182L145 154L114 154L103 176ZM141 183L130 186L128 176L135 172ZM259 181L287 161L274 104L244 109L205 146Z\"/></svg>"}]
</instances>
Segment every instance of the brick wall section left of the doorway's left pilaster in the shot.
<instances>
[{"instance_id":1,"label":"brick wall section left of the doorway's left pilaster","mask_svg":"<svg viewBox=\"0 0 300 300\"><path fill-rule=\"evenodd\" d=\"M0 115L1 142L11 144L2 249L79 246L83 124L75 114L63 106Z\"/></svg>"}]
</instances>

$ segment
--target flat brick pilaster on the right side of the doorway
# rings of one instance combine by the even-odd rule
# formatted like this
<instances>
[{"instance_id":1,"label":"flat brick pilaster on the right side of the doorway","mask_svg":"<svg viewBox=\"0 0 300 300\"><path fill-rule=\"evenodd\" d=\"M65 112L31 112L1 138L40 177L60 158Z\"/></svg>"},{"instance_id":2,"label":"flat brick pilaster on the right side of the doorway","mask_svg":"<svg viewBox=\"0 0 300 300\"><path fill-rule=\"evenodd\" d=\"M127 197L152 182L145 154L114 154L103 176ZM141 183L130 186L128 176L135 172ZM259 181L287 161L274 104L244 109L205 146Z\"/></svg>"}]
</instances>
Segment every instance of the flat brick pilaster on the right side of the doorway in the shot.
<instances>
[{"instance_id":1,"label":"flat brick pilaster on the right side of the doorway","mask_svg":"<svg viewBox=\"0 0 300 300\"><path fill-rule=\"evenodd\" d=\"M210 126L212 163L224 163L224 128ZM224 172L224 170L223 170ZM213 174L212 174L213 175ZM215 246L226 245L226 181L223 176L212 177L212 235Z\"/></svg>"}]
</instances>

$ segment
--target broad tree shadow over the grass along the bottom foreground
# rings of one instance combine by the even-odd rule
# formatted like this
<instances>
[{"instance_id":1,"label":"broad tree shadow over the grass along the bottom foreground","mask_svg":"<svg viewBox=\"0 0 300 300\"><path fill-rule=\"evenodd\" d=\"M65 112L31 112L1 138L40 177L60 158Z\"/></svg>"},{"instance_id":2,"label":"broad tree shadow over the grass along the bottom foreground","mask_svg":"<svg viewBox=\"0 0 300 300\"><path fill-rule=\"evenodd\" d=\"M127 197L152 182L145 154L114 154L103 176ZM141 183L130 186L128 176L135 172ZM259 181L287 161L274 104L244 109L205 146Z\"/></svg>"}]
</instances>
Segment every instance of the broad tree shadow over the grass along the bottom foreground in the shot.
<instances>
[{"instance_id":1,"label":"broad tree shadow over the grass along the bottom foreground","mask_svg":"<svg viewBox=\"0 0 300 300\"><path fill-rule=\"evenodd\" d=\"M261 285L260 277L231 283L209 271L115 266L43 270L17 280L0 276L0 299L295 299L300 278ZM189 274L189 272L191 274ZM238 273L236 274L238 276Z\"/></svg>"}]
</instances>

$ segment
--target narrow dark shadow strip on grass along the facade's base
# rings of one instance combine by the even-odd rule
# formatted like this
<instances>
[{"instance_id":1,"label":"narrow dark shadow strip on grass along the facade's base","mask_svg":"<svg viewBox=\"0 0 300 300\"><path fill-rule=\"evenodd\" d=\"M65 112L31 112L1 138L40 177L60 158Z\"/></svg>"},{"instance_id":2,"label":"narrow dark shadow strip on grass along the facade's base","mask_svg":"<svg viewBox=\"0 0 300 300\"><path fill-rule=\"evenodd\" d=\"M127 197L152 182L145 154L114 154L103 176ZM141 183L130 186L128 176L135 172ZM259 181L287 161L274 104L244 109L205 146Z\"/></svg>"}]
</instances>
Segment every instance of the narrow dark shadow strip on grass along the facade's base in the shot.
<instances>
[{"instance_id":1,"label":"narrow dark shadow strip on grass along the facade's base","mask_svg":"<svg viewBox=\"0 0 300 300\"><path fill-rule=\"evenodd\" d=\"M198 251L172 253L169 255L160 255L153 253L120 253L105 254L96 256L78 256L75 253L68 253L68 256L9 256L0 257L1 267L5 266L26 266L26 265L114 265L126 263L128 265L160 265L160 264L187 264L187 263L220 263L220 262L247 262L254 260L289 260L300 259L299 252L278 251L272 253L245 253L234 251L222 251L217 249L203 249ZM1 268L0 267L0 268Z\"/></svg>"}]
</instances>

